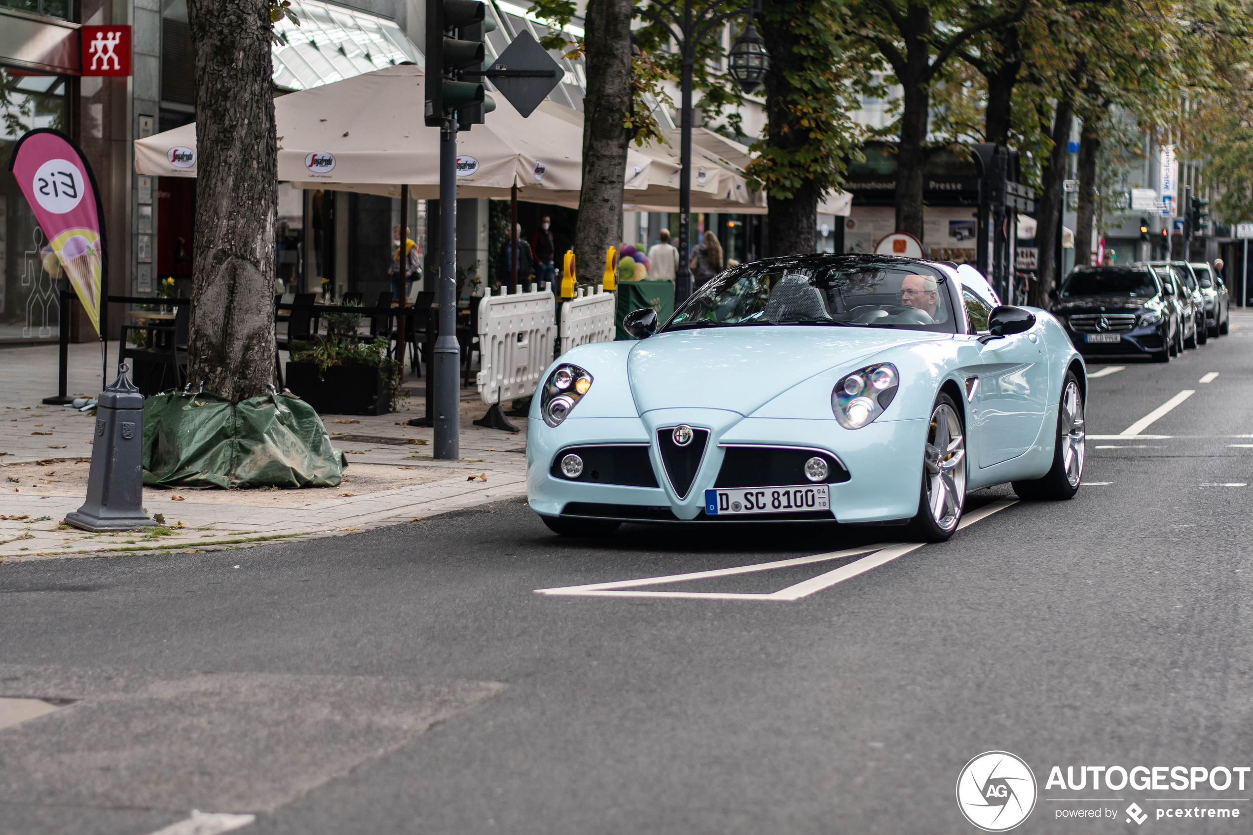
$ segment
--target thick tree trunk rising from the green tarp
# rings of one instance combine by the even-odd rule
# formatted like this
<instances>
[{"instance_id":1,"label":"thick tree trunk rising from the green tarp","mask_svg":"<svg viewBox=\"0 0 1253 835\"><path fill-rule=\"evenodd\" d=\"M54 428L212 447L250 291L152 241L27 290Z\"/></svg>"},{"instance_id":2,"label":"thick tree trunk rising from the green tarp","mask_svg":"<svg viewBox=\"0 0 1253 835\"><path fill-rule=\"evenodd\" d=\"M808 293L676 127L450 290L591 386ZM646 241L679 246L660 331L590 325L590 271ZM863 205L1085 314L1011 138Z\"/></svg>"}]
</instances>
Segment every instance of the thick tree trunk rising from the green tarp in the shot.
<instances>
[{"instance_id":1,"label":"thick tree trunk rising from the green tarp","mask_svg":"<svg viewBox=\"0 0 1253 835\"><path fill-rule=\"evenodd\" d=\"M195 244L188 379L239 402L274 379L278 163L267 0L188 0Z\"/></svg>"}]
</instances>

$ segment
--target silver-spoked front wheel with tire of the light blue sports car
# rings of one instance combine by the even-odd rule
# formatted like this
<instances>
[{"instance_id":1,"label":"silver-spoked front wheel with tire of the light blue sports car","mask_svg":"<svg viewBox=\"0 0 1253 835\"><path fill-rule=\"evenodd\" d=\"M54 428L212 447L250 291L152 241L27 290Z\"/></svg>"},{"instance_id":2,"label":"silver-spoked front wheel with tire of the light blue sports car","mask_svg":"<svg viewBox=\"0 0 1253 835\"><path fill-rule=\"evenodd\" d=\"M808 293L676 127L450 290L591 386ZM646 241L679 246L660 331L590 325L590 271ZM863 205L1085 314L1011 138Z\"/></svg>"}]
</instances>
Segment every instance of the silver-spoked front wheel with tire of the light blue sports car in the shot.
<instances>
[{"instance_id":1,"label":"silver-spoked front wheel with tire of the light blue sports car","mask_svg":"<svg viewBox=\"0 0 1253 835\"><path fill-rule=\"evenodd\" d=\"M922 447L922 489L910 533L923 542L944 542L957 530L965 503L965 427L957 404L941 393L931 408L927 442Z\"/></svg>"}]
</instances>

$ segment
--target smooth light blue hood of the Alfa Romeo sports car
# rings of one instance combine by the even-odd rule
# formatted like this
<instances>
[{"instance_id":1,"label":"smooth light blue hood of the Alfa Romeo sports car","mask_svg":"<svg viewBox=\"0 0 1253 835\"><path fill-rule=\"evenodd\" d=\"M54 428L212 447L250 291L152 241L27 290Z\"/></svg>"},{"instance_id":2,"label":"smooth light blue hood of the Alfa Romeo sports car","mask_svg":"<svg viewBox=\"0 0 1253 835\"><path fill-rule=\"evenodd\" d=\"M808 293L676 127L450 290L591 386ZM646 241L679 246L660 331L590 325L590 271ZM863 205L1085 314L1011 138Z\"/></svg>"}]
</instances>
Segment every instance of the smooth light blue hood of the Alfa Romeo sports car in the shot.
<instances>
[{"instance_id":1,"label":"smooth light blue hood of the Alfa Romeo sports car","mask_svg":"<svg viewBox=\"0 0 1253 835\"><path fill-rule=\"evenodd\" d=\"M626 374L640 414L690 407L752 414L829 368L852 371L885 348L951 338L947 333L824 325L677 330L640 341L626 361Z\"/></svg>"}]
</instances>

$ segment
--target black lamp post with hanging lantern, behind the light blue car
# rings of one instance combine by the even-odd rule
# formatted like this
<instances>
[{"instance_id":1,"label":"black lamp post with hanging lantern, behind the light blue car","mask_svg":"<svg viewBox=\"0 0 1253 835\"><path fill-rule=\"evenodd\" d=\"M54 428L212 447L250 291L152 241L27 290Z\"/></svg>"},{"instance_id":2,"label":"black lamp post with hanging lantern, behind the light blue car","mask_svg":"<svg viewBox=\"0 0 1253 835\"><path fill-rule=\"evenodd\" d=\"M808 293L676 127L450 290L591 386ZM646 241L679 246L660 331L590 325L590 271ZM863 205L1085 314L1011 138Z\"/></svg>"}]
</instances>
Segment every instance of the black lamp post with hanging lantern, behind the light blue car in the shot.
<instances>
[{"instance_id":1,"label":"black lamp post with hanging lantern, behind the light blue car","mask_svg":"<svg viewBox=\"0 0 1253 835\"><path fill-rule=\"evenodd\" d=\"M692 249L692 65L697 44L728 18L748 15L748 26L736 39L728 55L728 73L744 93L751 93L766 78L771 59L766 43L753 29L753 13L759 0L749 0L748 6L738 5L742 0L715 0L693 14L692 0L652 0L648 6L635 8L642 18L660 24L679 45L682 55L680 89L683 91L679 123L679 263L674 270L674 304L678 305L692 295L692 270L688 268ZM720 14L719 9L734 5Z\"/></svg>"}]
</instances>

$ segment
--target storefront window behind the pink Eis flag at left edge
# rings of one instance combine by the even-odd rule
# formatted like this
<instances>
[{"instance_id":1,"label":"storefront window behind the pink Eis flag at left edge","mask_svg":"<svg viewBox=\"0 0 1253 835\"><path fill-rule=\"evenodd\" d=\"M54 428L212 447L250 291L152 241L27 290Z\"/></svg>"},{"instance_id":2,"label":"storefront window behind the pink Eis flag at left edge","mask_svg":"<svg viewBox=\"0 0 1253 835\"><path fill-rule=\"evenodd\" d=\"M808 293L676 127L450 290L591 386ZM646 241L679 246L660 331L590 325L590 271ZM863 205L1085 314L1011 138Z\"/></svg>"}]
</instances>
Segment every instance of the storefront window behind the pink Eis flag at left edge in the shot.
<instances>
[{"instance_id":1,"label":"storefront window behind the pink Eis flag at left edge","mask_svg":"<svg viewBox=\"0 0 1253 835\"><path fill-rule=\"evenodd\" d=\"M65 78L0 66L0 159L34 128L65 129ZM0 341L56 338L59 278L18 180L0 168Z\"/></svg>"}]
</instances>

